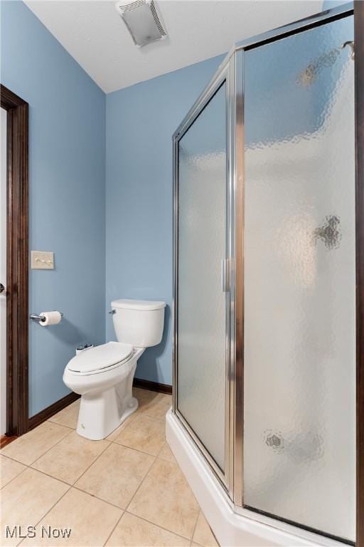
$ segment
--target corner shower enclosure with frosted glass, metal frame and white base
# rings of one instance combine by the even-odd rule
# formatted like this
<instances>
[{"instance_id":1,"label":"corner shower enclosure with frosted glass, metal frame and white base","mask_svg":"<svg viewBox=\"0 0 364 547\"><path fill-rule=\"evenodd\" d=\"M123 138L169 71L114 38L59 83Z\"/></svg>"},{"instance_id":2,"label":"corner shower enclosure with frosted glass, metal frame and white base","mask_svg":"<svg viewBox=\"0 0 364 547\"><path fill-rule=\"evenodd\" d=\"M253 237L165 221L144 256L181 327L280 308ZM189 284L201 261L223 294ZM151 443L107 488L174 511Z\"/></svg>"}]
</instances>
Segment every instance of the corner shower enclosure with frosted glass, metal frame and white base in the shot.
<instances>
[{"instance_id":1,"label":"corner shower enclosure with frosted glass, metal frame and white base","mask_svg":"<svg viewBox=\"0 0 364 547\"><path fill-rule=\"evenodd\" d=\"M364 541L359 16L348 4L238 44L173 136L167 438L221 543L228 536L203 501L208 489L192 484L178 431L237 528L260 527L230 544ZM275 543L269 527L282 531Z\"/></svg>"}]
</instances>

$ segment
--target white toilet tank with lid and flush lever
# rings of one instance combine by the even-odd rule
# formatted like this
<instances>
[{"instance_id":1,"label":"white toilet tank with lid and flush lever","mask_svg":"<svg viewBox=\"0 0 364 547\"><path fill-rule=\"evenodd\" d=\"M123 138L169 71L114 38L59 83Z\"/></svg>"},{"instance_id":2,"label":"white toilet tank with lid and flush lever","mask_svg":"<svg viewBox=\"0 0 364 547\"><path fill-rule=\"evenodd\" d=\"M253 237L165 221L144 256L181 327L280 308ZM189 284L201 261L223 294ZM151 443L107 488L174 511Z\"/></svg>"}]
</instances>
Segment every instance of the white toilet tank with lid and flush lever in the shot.
<instances>
[{"instance_id":1,"label":"white toilet tank with lid and flush lever","mask_svg":"<svg viewBox=\"0 0 364 547\"><path fill-rule=\"evenodd\" d=\"M151 300L114 300L112 319L118 342L134 348L149 348L161 342L165 302Z\"/></svg>"}]
</instances>

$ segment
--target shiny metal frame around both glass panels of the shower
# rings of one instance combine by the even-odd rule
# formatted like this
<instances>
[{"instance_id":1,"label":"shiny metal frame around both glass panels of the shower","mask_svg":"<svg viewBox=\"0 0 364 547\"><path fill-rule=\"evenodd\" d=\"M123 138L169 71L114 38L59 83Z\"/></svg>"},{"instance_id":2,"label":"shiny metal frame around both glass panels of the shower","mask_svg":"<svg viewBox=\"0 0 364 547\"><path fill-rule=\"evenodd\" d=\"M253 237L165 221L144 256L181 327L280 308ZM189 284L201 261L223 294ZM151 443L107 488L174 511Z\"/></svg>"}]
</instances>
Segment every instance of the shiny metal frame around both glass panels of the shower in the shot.
<instances>
[{"instance_id":1,"label":"shiny metal frame around both glass panels of the shower","mask_svg":"<svg viewBox=\"0 0 364 547\"><path fill-rule=\"evenodd\" d=\"M196 442L200 452L218 476L220 482L228 491L235 509L250 518L269 523L273 526L292 529L290 523L284 523L279 518L260 515L258 512L244 509L243 500L243 408L244 408L244 54L252 48L293 36L311 28L328 24L338 19L354 15L355 25L355 142L356 142L356 255L357 255L357 539L356 546L364 547L364 174L363 134L364 108L359 98L364 97L364 8L362 2L356 0L343 4L320 14L282 26L259 36L249 38L235 44L228 56L221 63L207 88L184 118L173 135L173 174L174 174L174 224L173 224L173 412ZM364 3L363 3L364 4ZM358 29L362 29L362 33ZM356 43L358 41L358 43ZM359 43L360 42L360 43ZM177 306L178 306L178 140L181 132L186 132L200 111L208 103L216 90L218 82L226 78L227 109L228 109L228 140L227 140L227 181L229 187L228 208L230 210L230 237L228 248L230 253L230 334L227 333L229 346L229 366L226 370L226 400L225 400L225 474L221 474L207 450L196 438L196 434L188 427L178 412L176 382L178 380L178 356L176 352L178 341ZM361 340L361 341L360 341ZM297 528L304 527L294 524Z\"/></svg>"}]
</instances>

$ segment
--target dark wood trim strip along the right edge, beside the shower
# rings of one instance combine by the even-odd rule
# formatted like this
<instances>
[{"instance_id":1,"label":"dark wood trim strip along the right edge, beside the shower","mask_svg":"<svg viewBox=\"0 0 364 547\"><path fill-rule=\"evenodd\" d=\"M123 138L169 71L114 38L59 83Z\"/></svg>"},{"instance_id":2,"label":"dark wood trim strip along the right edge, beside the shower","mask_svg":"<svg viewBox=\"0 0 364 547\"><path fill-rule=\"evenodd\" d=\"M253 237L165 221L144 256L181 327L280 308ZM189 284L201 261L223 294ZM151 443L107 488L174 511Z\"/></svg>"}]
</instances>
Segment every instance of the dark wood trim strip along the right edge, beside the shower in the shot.
<instances>
[{"instance_id":1,"label":"dark wood trim strip along the right edge, beside the shower","mask_svg":"<svg viewBox=\"0 0 364 547\"><path fill-rule=\"evenodd\" d=\"M364 2L354 2L356 155L356 545L364 547Z\"/></svg>"}]
</instances>

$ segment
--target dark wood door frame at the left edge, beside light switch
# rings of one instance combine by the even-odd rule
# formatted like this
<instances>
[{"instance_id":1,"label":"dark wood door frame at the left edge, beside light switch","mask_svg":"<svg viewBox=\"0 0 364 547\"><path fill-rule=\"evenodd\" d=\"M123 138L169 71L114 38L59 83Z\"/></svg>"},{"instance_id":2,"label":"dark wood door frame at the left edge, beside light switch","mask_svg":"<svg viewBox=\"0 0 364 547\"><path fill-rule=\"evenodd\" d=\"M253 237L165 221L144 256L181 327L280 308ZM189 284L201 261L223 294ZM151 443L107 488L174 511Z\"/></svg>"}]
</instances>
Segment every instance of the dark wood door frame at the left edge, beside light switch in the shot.
<instances>
[{"instance_id":1,"label":"dark wood door frame at the left edge, beside light switch","mask_svg":"<svg viewBox=\"0 0 364 547\"><path fill-rule=\"evenodd\" d=\"M4 85L7 111L6 432L28 431L28 103Z\"/></svg>"}]
</instances>

